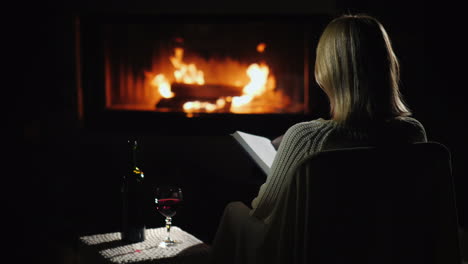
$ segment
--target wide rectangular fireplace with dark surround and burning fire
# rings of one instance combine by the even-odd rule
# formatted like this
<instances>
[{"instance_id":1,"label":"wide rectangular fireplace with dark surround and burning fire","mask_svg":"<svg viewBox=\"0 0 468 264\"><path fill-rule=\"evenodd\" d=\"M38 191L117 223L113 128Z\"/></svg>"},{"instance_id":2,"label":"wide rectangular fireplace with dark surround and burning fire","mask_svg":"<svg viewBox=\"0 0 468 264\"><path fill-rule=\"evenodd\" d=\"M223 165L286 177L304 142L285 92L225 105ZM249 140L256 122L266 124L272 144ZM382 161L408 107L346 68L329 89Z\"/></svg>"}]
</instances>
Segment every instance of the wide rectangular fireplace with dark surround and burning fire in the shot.
<instances>
[{"instance_id":1,"label":"wide rectangular fireplace with dark surround and burning fire","mask_svg":"<svg viewBox=\"0 0 468 264\"><path fill-rule=\"evenodd\" d=\"M301 119L319 104L311 62L325 21L319 15L82 16L84 119L94 125L145 115L173 125Z\"/></svg>"}]
</instances>

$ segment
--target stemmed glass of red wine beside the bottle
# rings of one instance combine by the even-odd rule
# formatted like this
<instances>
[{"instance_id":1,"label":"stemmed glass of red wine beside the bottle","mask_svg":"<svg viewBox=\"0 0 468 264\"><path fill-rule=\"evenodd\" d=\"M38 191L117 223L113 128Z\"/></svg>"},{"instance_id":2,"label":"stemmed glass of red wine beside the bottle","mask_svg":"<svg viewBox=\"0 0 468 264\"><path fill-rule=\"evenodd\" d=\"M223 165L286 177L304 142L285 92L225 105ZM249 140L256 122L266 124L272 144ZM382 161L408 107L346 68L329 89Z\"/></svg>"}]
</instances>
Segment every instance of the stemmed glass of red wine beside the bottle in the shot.
<instances>
[{"instance_id":1,"label":"stemmed glass of red wine beside the bottle","mask_svg":"<svg viewBox=\"0 0 468 264\"><path fill-rule=\"evenodd\" d=\"M160 247L172 247L182 243L171 238L172 217L182 203L182 190L176 186L162 186L156 188L154 203L160 214L166 217L167 237L159 244Z\"/></svg>"}]
</instances>

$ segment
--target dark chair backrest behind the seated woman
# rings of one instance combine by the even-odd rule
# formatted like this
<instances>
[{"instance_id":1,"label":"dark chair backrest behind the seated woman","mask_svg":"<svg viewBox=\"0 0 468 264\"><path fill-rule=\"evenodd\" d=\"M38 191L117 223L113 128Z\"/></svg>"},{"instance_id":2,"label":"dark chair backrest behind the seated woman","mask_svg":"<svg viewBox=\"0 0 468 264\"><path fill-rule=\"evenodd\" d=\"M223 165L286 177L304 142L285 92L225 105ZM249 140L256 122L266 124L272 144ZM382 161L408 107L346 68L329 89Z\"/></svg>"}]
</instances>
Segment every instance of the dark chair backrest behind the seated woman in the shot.
<instances>
[{"instance_id":1,"label":"dark chair backrest behind the seated woman","mask_svg":"<svg viewBox=\"0 0 468 264\"><path fill-rule=\"evenodd\" d=\"M461 263L450 152L442 144L325 151L293 173L282 215L267 231L266 259Z\"/></svg>"}]
</instances>

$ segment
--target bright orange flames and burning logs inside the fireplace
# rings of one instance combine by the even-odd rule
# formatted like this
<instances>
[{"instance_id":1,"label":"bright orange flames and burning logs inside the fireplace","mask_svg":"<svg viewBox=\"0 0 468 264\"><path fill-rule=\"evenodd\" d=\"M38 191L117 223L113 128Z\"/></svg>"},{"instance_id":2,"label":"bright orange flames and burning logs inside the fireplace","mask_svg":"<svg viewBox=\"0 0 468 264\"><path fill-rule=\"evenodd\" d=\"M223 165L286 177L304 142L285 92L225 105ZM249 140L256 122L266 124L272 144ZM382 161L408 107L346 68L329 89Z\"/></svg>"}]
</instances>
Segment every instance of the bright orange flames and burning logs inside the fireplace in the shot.
<instances>
[{"instance_id":1,"label":"bright orange flames and burning logs inside the fireplace","mask_svg":"<svg viewBox=\"0 0 468 264\"><path fill-rule=\"evenodd\" d=\"M265 43L256 50L263 53ZM276 89L275 76L263 62L251 64L232 59L184 61L184 49L176 47L169 61L170 75L146 73L157 90L156 110L194 113L277 113L290 99ZM200 68L199 68L200 67ZM203 69L203 70L202 70Z\"/></svg>"}]
</instances>

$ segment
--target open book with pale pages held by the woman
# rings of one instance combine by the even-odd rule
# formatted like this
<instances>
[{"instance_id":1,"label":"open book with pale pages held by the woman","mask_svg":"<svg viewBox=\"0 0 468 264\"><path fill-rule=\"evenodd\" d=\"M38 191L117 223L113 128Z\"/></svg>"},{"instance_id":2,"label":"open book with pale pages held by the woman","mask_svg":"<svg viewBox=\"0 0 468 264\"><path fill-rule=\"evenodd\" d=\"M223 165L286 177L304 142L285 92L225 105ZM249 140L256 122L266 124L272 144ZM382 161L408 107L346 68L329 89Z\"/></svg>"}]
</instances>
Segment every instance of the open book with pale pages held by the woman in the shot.
<instances>
[{"instance_id":1,"label":"open book with pale pages held by the woman","mask_svg":"<svg viewBox=\"0 0 468 264\"><path fill-rule=\"evenodd\" d=\"M236 131L231 135L263 172L268 175L276 155L276 149L271 140L266 137L252 135L242 131Z\"/></svg>"}]
</instances>

